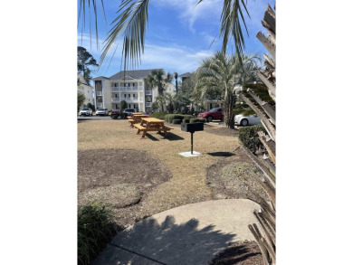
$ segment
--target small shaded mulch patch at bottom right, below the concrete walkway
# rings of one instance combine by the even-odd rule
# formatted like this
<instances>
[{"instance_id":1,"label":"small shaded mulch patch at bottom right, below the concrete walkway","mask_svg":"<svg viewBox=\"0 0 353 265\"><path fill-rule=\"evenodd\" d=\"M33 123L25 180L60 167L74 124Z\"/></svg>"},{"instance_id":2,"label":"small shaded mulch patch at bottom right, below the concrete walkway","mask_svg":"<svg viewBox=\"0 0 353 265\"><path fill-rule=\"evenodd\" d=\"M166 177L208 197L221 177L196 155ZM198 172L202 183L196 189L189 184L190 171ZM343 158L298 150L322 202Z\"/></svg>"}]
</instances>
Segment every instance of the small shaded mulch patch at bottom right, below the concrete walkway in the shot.
<instances>
[{"instance_id":1,"label":"small shaded mulch patch at bottom right, below the concrete walkway","mask_svg":"<svg viewBox=\"0 0 353 265\"><path fill-rule=\"evenodd\" d=\"M263 265L262 254L255 241L236 242L220 253L210 265Z\"/></svg>"}]
</instances>

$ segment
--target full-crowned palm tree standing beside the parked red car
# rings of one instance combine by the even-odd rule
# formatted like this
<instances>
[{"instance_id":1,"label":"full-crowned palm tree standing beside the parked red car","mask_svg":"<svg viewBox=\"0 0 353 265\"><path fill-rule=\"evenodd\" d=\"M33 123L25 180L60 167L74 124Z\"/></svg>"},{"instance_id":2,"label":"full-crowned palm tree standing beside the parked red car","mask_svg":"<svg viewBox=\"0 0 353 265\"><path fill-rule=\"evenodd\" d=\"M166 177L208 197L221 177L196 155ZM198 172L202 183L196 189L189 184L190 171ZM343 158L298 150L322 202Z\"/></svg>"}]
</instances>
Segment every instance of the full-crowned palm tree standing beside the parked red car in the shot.
<instances>
[{"instance_id":1,"label":"full-crowned palm tree standing beside the parked red car","mask_svg":"<svg viewBox=\"0 0 353 265\"><path fill-rule=\"evenodd\" d=\"M224 122L228 128L234 128L234 87L258 80L254 74L260 68L257 60L260 60L257 55L242 55L239 60L238 56L215 52L203 60L196 71L195 95L204 101L207 95L219 95L224 101Z\"/></svg>"}]
</instances>

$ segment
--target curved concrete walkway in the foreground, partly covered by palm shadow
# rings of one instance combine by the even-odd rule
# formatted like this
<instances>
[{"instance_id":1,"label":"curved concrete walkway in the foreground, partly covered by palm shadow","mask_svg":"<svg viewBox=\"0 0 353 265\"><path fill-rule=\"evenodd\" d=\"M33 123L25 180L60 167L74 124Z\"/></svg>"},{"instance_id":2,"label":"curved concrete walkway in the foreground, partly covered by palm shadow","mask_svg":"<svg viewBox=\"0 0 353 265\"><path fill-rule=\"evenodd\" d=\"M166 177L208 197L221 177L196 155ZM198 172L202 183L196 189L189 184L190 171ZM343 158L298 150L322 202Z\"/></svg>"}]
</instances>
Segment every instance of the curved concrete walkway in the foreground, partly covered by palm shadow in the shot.
<instances>
[{"instance_id":1,"label":"curved concrete walkway in the foreground, partly covered by palm shadow","mask_svg":"<svg viewBox=\"0 0 353 265\"><path fill-rule=\"evenodd\" d=\"M207 264L235 241L253 241L258 223L245 199L216 200L157 213L119 232L94 265Z\"/></svg>"}]
</instances>

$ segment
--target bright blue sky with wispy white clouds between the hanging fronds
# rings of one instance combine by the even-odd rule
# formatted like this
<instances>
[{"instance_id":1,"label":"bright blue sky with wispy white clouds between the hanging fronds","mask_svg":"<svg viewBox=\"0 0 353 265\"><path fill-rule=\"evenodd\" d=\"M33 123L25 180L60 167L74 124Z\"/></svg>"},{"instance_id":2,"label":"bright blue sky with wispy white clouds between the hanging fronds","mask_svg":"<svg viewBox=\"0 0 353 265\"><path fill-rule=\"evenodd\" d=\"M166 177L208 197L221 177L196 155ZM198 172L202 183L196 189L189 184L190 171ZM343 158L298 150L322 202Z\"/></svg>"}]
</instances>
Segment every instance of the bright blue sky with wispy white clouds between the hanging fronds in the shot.
<instances>
[{"instance_id":1,"label":"bright blue sky with wispy white clouds between the hanging fronds","mask_svg":"<svg viewBox=\"0 0 353 265\"><path fill-rule=\"evenodd\" d=\"M141 64L137 69L163 68L166 71L176 71L182 74L186 71L195 71L203 58L220 50L222 40L218 38L218 33L223 1L204 0L203 3L196 6L197 1L150 1L145 53L142 55ZM80 0L78 0L78 5L79 3ZM89 24L86 23L83 31L81 23L79 24L77 43L91 52L97 61L100 59L102 43L106 38L107 30L110 29L110 22L117 16L119 3L120 0L104 1L107 25L102 22L100 16L100 49L97 49L94 33L92 33L92 39L90 38ZM251 19L246 19L249 37L245 36L245 52L260 54L266 52L255 35L259 31L264 32L261 20L267 4L273 6L274 1L249 0L247 3ZM210 47L215 37L215 43ZM116 44L118 45L117 52L114 56L111 53L101 65L100 71L93 73L92 76L110 77L121 70L121 44L119 41ZM232 52L232 49L228 51Z\"/></svg>"}]
</instances>

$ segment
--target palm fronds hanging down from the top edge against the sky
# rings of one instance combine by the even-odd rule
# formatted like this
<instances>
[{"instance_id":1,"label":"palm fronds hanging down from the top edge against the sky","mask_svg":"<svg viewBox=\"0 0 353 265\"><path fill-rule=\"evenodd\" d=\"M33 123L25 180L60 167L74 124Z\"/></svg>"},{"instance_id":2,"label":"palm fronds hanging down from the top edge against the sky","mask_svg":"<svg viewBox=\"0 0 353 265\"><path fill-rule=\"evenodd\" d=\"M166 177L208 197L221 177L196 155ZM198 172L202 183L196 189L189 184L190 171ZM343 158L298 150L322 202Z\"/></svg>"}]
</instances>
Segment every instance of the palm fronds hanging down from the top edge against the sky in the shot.
<instances>
[{"instance_id":1,"label":"palm fronds hanging down from the top edge against the sky","mask_svg":"<svg viewBox=\"0 0 353 265\"><path fill-rule=\"evenodd\" d=\"M197 5L202 3L199 0ZM97 4L100 3L104 15L103 0L81 0L80 14L83 24L85 23L86 13L91 14L93 8L95 27L98 44L97 30ZM113 20L107 39L105 40L104 50L100 56L100 64L105 56L110 52L110 48L117 38L122 37L122 57L124 60L124 70L128 70L132 66L136 66L141 61L141 52L144 52L145 34L148 24L148 4L149 0L121 0L118 16ZM88 10L86 11L86 7ZM244 0L224 0L223 11L221 14L221 29L219 37L223 37L222 52L226 52L226 46L229 41L234 40L236 54L241 61L241 54L245 47L243 39L242 24L246 33L249 35L244 21L243 11L250 17ZM216 19L216 18L215 18ZM242 23L241 23L242 22ZM90 20L91 29L91 20ZM242 61L241 61L242 62Z\"/></svg>"}]
</instances>

